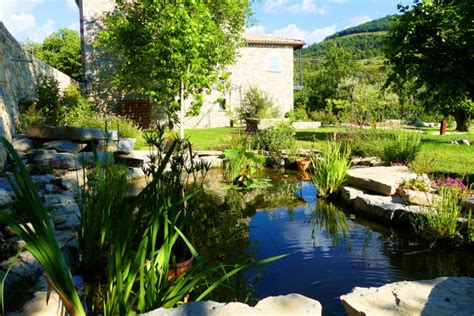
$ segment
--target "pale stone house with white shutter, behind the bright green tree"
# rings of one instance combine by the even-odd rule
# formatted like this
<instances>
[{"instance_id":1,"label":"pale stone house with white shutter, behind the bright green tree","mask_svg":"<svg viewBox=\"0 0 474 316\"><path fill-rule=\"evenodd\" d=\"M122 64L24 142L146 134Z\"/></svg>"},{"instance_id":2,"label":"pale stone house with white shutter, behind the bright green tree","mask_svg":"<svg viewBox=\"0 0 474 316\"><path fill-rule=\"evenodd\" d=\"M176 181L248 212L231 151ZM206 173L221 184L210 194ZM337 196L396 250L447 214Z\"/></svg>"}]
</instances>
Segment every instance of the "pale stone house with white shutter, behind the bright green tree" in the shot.
<instances>
[{"instance_id":1,"label":"pale stone house with white shutter, behind the bright green tree","mask_svg":"<svg viewBox=\"0 0 474 316\"><path fill-rule=\"evenodd\" d=\"M92 44L101 27L100 18L113 10L114 0L76 0L76 3L80 11L84 83L88 87L98 87L101 86L104 63ZM251 86L270 95L282 117L293 109L293 91L302 85L301 76L299 86L294 85L294 51L301 51L304 41L260 35L245 35L245 39L247 45L240 49L236 63L228 68L230 89L212 89L204 97L201 113L186 117L186 128L229 126L231 114Z\"/></svg>"}]
</instances>

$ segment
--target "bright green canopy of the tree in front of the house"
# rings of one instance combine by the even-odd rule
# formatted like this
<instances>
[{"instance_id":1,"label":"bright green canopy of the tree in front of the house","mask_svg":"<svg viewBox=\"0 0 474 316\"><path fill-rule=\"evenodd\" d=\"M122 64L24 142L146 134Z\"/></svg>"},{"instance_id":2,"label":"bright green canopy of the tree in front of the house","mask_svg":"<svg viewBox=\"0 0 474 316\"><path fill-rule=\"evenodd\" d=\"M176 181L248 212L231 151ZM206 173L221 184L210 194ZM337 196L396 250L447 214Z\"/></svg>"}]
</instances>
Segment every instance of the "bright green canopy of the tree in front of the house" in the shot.
<instances>
[{"instance_id":1,"label":"bright green canopy of the tree in front of the house","mask_svg":"<svg viewBox=\"0 0 474 316\"><path fill-rule=\"evenodd\" d=\"M114 58L112 83L171 113L184 90L197 112L200 96L235 60L249 12L247 0L119 1L99 34Z\"/></svg>"}]
</instances>

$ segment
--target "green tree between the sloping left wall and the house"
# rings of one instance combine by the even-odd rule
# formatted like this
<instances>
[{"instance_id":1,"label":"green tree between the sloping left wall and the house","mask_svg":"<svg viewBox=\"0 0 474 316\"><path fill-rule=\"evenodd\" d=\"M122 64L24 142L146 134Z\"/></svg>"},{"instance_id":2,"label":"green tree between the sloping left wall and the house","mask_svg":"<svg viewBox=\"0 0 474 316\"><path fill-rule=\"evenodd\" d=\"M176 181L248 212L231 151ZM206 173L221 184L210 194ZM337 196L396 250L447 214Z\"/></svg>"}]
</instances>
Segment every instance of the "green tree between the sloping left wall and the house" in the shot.
<instances>
[{"instance_id":1,"label":"green tree between the sloping left wall and the house","mask_svg":"<svg viewBox=\"0 0 474 316\"><path fill-rule=\"evenodd\" d=\"M81 38L76 31L63 28L48 36L42 44L30 42L24 48L71 78L81 80Z\"/></svg>"}]
</instances>

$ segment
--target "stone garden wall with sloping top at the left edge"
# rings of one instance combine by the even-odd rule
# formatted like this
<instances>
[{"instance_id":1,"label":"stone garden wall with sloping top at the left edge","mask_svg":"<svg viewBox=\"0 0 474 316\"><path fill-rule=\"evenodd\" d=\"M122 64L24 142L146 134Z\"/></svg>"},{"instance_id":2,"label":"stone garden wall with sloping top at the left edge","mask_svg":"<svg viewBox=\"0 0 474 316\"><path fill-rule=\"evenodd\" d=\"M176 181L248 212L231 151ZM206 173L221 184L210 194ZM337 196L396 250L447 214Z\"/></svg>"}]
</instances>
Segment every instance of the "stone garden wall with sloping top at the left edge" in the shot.
<instances>
[{"instance_id":1,"label":"stone garden wall with sloping top at the left edge","mask_svg":"<svg viewBox=\"0 0 474 316\"><path fill-rule=\"evenodd\" d=\"M75 82L25 51L0 22L0 135L8 140L12 139L19 121L18 102L33 99L40 74L55 77L60 88ZM5 153L0 147L0 167L4 163Z\"/></svg>"}]
</instances>

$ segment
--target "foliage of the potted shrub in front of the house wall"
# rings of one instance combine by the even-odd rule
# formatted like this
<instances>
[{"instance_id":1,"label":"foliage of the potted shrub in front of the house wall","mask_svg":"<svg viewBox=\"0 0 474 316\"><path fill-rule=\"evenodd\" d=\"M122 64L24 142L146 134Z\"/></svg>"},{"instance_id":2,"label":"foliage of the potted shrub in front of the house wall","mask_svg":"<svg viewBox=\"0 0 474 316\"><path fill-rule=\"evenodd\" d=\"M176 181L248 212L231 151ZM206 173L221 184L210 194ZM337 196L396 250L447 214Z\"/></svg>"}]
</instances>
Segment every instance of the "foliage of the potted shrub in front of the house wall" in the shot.
<instances>
[{"instance_id":1,"label":"foliage of the potted shrub in front of the house wall","mask_svg":"<svg viewBox=\"0 0 474 316\"><path fill-rule=\"evenodd\" d=\"M250 87L244 95L242 104L237 109L240 119L262 119L278 116L278 109L265 91Z\"/></svg>"}]
</instances>

